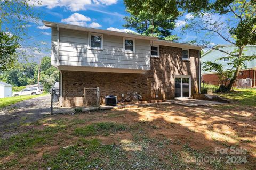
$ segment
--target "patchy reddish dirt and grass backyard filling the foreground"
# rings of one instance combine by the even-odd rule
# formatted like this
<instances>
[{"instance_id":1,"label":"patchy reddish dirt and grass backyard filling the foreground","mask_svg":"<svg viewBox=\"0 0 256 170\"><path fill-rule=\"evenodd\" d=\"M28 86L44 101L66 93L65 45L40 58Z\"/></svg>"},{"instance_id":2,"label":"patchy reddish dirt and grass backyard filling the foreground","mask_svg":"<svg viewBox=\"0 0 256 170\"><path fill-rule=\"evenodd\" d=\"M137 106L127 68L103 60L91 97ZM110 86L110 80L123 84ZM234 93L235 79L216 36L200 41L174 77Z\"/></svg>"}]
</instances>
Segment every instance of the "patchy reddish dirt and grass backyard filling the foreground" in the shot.
<instances>
[{"instance_id":1,"label":"patchy reddish dirt and grass backyard filling the foreground","mask_svg":"<svg viewBox=\"0 0 256 170\"><path fill-rule=\"evenodd\" d=\"M255 108L223 107L162 105L49 116L31 124L34 131L28 129L24 138L0 141L0 167L256 169ZM77 128L90 133L76 134ZM214 147L245 148L246 154L235 156L245 156L247 162L225 164L226 156L234 155L214 154ZM207 156L225 159L211 164L189 159Z\"/></svg>"}]
</instances>

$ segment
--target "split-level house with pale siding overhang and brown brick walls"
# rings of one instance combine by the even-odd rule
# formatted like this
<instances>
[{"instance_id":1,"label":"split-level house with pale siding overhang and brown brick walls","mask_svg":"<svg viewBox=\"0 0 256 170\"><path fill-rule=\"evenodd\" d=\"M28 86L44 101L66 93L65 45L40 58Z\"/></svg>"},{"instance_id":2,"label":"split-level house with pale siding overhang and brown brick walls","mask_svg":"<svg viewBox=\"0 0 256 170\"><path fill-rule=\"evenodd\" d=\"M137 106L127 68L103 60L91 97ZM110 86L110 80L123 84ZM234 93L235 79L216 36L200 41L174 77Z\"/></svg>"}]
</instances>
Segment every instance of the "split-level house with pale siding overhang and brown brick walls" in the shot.
<instances>
[{"instance_id":1,"label":"split-level house with pale siding overhang and brown brick walls","mask_svg":"<svg viewBox=\"0 0 256 170\"><path fill-rule=\"evenodd\" d=\"M60 105L83 106L84 88L118 100L190 98L199 92L201 47L43 21L52 28L51 64L60 71Z\"/></svg>"}]
</instances>

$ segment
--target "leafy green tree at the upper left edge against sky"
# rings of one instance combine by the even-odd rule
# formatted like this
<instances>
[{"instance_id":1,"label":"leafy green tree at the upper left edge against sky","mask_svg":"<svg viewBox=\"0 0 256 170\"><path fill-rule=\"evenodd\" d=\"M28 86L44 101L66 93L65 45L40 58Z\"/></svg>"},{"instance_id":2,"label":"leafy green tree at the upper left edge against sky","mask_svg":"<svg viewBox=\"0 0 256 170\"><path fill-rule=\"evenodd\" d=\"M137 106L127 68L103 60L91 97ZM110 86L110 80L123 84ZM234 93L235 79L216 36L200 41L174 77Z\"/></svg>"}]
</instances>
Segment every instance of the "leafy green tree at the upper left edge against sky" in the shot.
<instances>
[{"instance_id":1,"label":"leafy green tree at the upper left edge against sky","mask_svg":"<svg viewBox=\"0 0 256 170\"><path fill-rule=\"evenodd\" d=\"M18 49L26 39L27 25L38 23L30 0L0 1L0 70L12 69L21 57Z\"/></svg>"}]
</instances>

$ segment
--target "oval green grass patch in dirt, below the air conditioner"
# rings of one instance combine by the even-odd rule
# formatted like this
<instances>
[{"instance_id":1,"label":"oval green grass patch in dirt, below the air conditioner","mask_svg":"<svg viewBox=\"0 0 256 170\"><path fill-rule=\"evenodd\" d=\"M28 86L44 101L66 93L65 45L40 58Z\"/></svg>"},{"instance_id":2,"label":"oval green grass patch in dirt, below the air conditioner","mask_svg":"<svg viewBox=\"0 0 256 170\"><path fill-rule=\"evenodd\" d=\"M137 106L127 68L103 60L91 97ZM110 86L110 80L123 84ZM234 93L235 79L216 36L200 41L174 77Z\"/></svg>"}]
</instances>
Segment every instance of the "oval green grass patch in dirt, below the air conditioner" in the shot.
<instances>
[{"instance_id":1,"label":"oval green grass patch in dirt, below the air conditioner","mask_svg":"<svg viewBox=\"0 0 256 170\"><path fill-rule=\"evenodd\" d=\"M92 123L83 128L76 128L75 134L82 135L84 137L91 135L109 135L109 133L113 133L116 131L124 131L126 130L126 126L123 124L117 124L112 122L100 122L100 123Z\"/></svg>"}]
</instances>

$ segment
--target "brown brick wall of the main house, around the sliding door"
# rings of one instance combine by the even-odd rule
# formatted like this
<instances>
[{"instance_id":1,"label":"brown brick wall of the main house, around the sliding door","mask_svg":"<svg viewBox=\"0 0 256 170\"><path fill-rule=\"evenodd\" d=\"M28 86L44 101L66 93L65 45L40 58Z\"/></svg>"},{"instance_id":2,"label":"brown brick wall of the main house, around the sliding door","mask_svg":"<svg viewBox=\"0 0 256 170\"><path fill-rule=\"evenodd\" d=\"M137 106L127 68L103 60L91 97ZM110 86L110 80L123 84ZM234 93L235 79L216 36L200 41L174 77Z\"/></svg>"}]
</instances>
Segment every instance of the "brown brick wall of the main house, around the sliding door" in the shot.
<instances>
[{"instance_id":1,"label":"brown brick wall of the main house, around the sliding door","mask_svg":"<svg viewBox=\"0 0 256 170\"><path fill-rule=\"evenodd\" d=\"M181 48L160 46L159 51L159 58L151 58L154 91L152 70L145 74L62 71L63 106L83 106L84 87L99 87L101 101L106 95L120 100L128 92L138 92L143 100L173 99L175 75L191 75L191 92L198 92L198 50L189 51L190 61L182 60Z\"/></svg>"}]
</instances>

